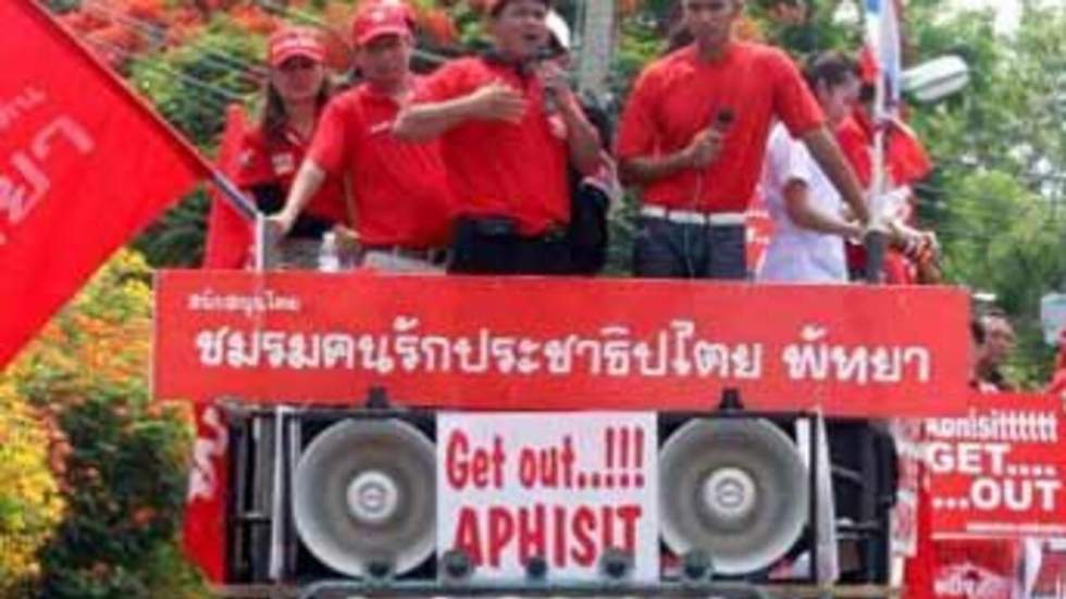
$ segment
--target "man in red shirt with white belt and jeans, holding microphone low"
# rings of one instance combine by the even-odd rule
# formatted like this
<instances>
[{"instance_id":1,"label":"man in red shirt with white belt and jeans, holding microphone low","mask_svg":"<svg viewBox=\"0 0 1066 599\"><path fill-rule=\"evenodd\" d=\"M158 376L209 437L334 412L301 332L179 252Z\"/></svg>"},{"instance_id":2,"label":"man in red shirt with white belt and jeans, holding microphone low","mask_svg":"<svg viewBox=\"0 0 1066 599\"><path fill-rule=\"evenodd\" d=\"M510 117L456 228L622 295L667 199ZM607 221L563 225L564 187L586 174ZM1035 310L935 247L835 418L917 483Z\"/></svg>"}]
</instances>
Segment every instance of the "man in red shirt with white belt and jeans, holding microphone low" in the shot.
<instances>
[{"instance_id":1,"label":"man in red shirt with white belt and jeans, holding microphone low","mask_svg":"<svg viewBox=\"0 0 1066 599\"><path fill-rule=\"evenodd\" d=\"M782 51L734 40L743 0L681 0L694 41L649 65L622 116L623 180L643 188L639 276L745 278L744 212L774 118L865 223L855 175Z\"/></svg>"}]
</instances>

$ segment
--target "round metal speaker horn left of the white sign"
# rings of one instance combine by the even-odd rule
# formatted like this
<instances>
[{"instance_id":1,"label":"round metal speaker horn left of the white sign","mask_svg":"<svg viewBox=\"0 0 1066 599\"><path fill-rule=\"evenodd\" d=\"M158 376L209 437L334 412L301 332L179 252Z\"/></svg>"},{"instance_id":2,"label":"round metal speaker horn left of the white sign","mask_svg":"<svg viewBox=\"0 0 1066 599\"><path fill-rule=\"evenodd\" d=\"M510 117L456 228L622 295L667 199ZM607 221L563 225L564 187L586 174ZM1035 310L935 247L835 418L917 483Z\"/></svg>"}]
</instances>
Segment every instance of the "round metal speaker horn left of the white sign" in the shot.
<instances>
[{"instance_id":1,"label":"round metal speaker horn left of the white sign","mask_svg":"<svg viewBox=\"0 0 1066 599\"><path fill-rule=\"evenodd\" d=\"M397 420L350 420L303 451L293 485L296 531L325 565L349 576L388 564L400 575L433 553L433 442Z\"/></svg>"}]
</instances>

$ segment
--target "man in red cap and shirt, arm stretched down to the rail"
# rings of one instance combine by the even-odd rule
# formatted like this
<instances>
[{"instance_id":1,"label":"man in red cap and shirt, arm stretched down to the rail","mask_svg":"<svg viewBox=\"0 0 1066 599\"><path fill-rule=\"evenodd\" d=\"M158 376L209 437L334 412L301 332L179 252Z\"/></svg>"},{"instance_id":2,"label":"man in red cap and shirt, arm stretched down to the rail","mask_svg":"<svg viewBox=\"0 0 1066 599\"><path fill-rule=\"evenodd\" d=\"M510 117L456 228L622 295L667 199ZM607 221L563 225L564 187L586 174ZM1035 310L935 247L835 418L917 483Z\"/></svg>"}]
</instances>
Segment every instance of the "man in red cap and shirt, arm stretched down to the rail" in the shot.
<instances>
[{"instance_id":1,"label":"man in red cap and shirt, arm stretched down to the rail","mask_svg":"<svg viewBox=\"0 0 1066 599\"><path fill-rule=\"evenodd\" d=\"M330 178L348 177L362 264L389 271L435 271L445 263L451 197L434 141L393 136L397 113L422 86L410 72L414 38L399 2L364 7L352 25L364 83L330 101L285 209L283 229Z\"/></svg>"}]
</instances>

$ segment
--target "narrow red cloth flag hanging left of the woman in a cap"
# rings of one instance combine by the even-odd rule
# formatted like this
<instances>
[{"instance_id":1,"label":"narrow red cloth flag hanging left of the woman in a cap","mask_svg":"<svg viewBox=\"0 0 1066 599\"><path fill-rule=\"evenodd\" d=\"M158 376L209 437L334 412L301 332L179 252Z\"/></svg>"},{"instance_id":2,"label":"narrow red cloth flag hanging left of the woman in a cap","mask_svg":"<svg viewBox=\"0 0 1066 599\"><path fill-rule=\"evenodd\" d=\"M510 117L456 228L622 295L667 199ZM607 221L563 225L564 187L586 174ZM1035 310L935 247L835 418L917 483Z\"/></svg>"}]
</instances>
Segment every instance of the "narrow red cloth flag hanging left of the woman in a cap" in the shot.
<instances>
[{"instance_id":1,"label":"narrow red cloth flag hanging left of the woman in a cap","mask_svg":"<svg viewBox=\"0 0 1066 599\"><path fill-rule=\"evenodd\" d=\"M219 159L220 171L232 178L240 160L240 141L245 135L245 111L239 104L226 110L226 128L222 133ZM214 186L208 191L211 213L208 216L204 269L240 269L248 263L248 248L252 242L252 228L248 220L222 197Z\"/></svg>"}]
</instances>

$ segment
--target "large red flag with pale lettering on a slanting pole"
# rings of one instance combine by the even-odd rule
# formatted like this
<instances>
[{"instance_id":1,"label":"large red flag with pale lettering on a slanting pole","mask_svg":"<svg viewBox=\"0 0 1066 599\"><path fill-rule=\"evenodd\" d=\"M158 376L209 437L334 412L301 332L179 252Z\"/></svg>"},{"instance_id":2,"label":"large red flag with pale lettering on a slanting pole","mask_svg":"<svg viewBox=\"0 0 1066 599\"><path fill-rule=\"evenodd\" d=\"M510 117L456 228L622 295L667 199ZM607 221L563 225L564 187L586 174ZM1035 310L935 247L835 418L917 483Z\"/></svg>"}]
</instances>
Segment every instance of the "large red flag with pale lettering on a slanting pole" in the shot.
<instances>
[{"instance_id":1,"label":"large red flag with pale lettering on a slanting pole","mask_svg":"<svg viewBox=\"0 0 1066 599\"><path fill-rule=\"evenodd\" d=\"M33 0L0 2L0 366L209 173Z\"/></svg>"}]
</instances>

